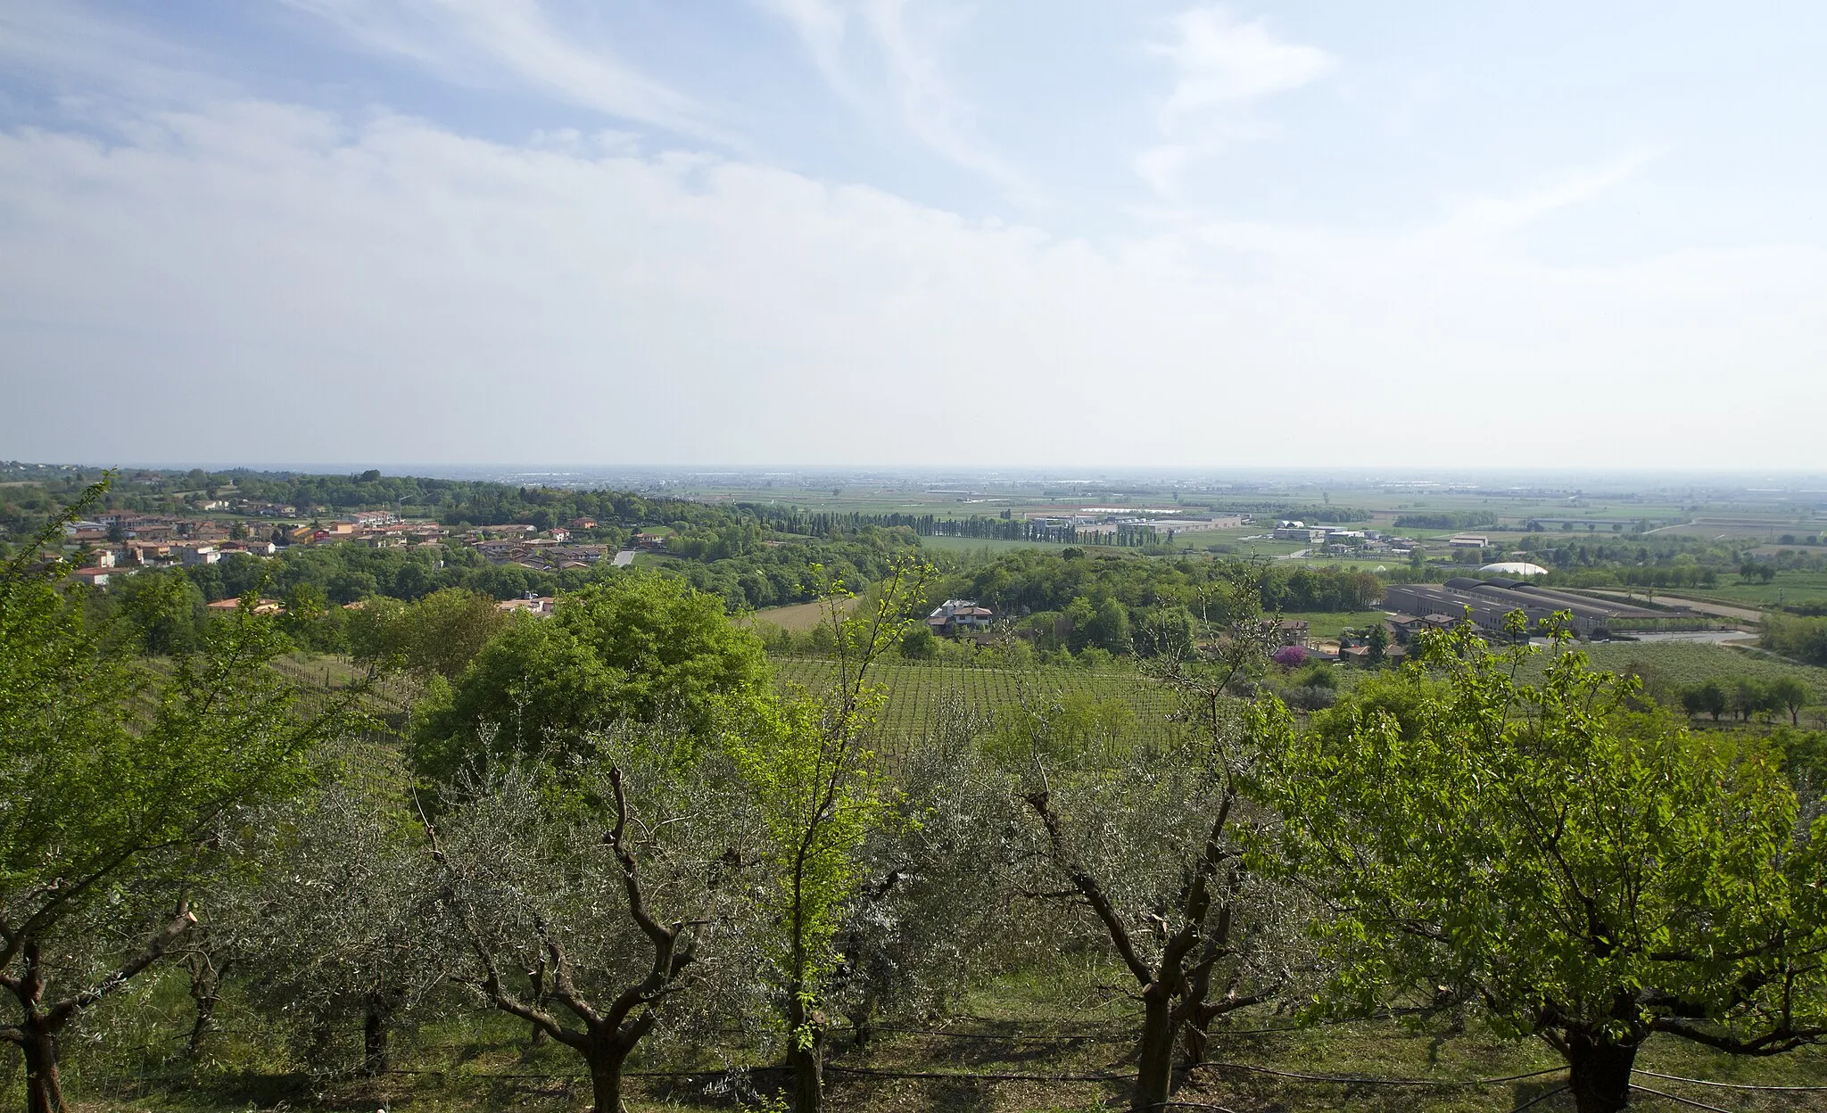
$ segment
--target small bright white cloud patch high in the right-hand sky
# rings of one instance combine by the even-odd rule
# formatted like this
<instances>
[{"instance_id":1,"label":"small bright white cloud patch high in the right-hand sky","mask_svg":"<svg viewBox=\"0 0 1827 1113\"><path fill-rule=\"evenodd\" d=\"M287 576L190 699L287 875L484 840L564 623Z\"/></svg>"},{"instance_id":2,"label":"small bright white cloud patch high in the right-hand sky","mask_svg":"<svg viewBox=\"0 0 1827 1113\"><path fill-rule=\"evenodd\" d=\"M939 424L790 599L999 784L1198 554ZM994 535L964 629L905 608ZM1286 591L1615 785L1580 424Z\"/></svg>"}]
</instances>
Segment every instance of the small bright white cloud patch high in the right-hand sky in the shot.
<instances>
[{"instance_id":1,"label":"small bright white cloud patch high in the right-hand sky","mask_svg":"<svg viewBox=\"0 0 1827 1113\"><path fill-rule=\"evenodd\" d=\"M1149 44L1173 69L1173 90L1158 110L1166 141L1133 161L1162 196L1175 194L1193 161L1273 133L1255 119L1255 104L1310 84L1336 64L1326 51L1284 42L1262 20L1237 22L1224 7L1191 7L1169 27L1167 42Z\"/></svg>"}]
</instances>

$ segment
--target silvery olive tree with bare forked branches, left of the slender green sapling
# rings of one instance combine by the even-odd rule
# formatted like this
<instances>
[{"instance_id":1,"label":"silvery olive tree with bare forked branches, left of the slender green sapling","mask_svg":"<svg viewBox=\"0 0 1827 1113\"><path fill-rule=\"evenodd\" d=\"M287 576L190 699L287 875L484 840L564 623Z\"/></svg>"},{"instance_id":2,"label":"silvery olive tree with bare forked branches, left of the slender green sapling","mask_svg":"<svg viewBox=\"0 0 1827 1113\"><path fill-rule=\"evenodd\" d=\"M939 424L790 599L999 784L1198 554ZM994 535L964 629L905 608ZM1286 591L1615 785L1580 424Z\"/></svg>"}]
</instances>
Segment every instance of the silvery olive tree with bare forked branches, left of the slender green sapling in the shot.
<instances>
[{"instance_id":1,"label":"silvery olive tree with bare forked branches, left of the slender green sapling","mask_svg":"<svg viewBox=\"0 0 1827 1113\"><path fill-rule=\"evenodd\" d=\"M745 906L733 877L744 808L716 755L649 738L601 764L512 764L446 790L426 830L451 976L576 1051L596 1113L702 985Z\"/></svg>"}]
</instances>

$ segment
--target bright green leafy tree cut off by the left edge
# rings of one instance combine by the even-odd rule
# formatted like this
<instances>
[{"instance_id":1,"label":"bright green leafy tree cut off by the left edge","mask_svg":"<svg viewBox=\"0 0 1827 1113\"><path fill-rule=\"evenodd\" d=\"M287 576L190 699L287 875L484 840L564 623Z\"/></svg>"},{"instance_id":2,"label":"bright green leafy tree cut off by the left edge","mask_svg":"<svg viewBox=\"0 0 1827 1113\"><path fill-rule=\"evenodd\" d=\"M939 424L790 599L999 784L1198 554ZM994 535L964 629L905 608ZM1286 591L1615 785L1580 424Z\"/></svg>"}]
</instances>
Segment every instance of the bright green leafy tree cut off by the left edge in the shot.
<instances>
[{"instance_id":1,"label":"bright green leafy tree cut off by the left edge","mask_svg":"<svg viewBox=\"0 0 1827 1113\"><path fill-rule=\"evenodd\" d=\"M0 1038L26 1056L33 1113L64 1108L71 1022L190 930L219 824L301 784L340 724L294 711L267 665L285 640L250 609L153 678L84 621L60 570L0 568L0 989L15 1003Z\"/></svg>"}]
</instances>

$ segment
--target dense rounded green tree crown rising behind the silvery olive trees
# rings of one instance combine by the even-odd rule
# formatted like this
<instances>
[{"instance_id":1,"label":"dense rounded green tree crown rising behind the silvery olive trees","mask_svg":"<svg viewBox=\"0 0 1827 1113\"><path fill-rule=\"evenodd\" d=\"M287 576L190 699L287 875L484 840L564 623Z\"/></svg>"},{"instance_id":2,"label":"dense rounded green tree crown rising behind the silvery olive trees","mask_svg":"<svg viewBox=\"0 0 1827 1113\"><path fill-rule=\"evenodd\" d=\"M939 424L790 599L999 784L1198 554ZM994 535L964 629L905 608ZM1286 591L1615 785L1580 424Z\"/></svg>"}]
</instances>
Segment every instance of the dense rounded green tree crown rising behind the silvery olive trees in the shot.
<instances>
[{"instance_id":1,"label":"dense rounded green tree crown rising behind the silvery olive trees","mask_svg":"<svg viewBox=\"0 0 1827 1113\"><path fill-rule=\"evenodd\" d=\"M723 700L767 689L760 640L716 596L623 574L521 616L413 711L413 764L433 779L513 755L588 753L618 722L709 737Z\"/></svg>"}]
</instances>

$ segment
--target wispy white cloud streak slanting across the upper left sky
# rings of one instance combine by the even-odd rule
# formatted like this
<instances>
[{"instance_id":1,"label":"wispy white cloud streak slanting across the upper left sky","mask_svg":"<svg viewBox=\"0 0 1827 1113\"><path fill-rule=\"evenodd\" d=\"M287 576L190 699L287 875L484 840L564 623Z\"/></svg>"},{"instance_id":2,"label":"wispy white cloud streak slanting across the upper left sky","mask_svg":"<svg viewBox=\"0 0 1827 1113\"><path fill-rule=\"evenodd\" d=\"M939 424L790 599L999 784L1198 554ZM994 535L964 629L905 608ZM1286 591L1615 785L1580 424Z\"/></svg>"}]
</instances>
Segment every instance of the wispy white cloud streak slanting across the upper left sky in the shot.
<instances>
[{"instance_id":1,"label":"wispy white cloud streak slanting across the upper left sky","mask_svg":"<svg viewBox=\"0 0 1827 1113\"><path fill-rule=\"evenodd\" d=\"M513 82L605 115L725 146L716 113L649 77L576 29L559 29L539 0L287 0L333 22L365 49L411 58L481 86Z\"/></svg>"}]
</instances>

